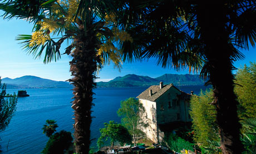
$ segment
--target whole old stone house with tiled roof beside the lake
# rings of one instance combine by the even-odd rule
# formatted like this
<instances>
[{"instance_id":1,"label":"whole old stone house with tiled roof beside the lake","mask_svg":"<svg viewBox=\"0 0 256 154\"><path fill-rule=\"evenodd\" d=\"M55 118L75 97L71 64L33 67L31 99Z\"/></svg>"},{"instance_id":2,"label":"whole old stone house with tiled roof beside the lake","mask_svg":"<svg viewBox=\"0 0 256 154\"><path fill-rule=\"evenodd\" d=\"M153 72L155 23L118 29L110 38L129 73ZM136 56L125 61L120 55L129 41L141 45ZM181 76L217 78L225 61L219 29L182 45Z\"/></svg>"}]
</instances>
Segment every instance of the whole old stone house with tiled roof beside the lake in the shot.
<instances>
[{"instance_id":1,"label":"whole old stone house with tiled roof beside the lake","mask_svg":"<svg viewBox=\"0 0 256 154\"><path fill-rule=\"evenodd\" d=\"M171 132L178 126L191 122L189 115L190 96L173 84L150 86L136 98L145 107L144 120L149 126L143 128L147 138L159 143L165 132Z\"/></svg>"}]
</instances>

